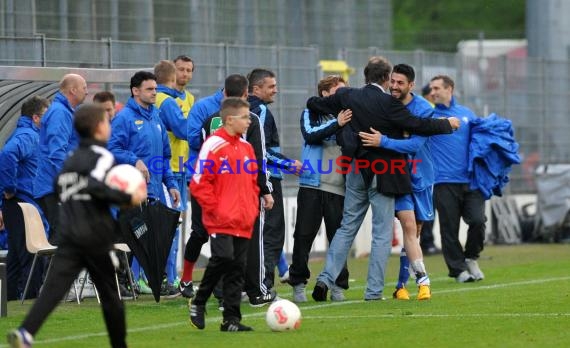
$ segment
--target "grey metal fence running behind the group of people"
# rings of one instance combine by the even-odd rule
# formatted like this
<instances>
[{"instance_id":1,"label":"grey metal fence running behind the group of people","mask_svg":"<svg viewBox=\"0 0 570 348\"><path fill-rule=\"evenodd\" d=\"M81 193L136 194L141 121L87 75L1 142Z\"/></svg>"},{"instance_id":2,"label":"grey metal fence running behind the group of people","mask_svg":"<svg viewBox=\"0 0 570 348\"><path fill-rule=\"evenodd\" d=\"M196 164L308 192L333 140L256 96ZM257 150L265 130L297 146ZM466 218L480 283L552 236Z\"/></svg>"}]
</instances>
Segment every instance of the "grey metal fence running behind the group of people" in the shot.
<instances>
[{"instance_id":1,"label":"grey metal fence running behind the group of people","mask_svg":"<svg viewBox=\"0 0 570 348\"><path fill-rule=\"evenodd\" d=\"M284 153L298 158L302 142L300 112L306 99L315 94L322 75L319 50L315 47L183 44L168 39L129 42L0 37L0 65L5 66L148 69L160 59L172 59L179 54L195 60L190 90L197 99L220 88L228 74L246 74L255 67L274 70L279 95L271 108L277 117ZM456 82L460 103L480 116L495 112L511 119L524 162L513 169L509 192L535 192L534 168L539 163L570 163L568 61L344 49L339 57L356 71L350 79L352 86L363 84L362 70L372 55L383 55L394 64L413 65L418 88L436 74L450 75ZM112 89L123 102L128 97L128 81L99 84L96 88ZM296 187L295 178L286 179L289 194Z\"/></svg>"}]
</instances>

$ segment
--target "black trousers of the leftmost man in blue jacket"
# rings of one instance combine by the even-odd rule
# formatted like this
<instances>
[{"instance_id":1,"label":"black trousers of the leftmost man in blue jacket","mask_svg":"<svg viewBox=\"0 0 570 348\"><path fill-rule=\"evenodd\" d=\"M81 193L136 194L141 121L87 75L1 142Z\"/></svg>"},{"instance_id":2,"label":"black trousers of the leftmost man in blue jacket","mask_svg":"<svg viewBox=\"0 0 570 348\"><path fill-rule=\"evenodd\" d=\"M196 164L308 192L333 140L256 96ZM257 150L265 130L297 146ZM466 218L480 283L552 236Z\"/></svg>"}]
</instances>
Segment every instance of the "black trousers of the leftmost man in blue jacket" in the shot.
<instances>
[{"instance_id":1,"label":"black trousers of the leftmost man in blue jacket","mask_svg":"<svg viewBox=\"0 0 570 348\"><path fill-rule=\"evenodd\" d=\"M18 300L22 297L26 281L30 274L34 255L26 249L26 228L24 226L24 215L18 202L20 199L12 198L4 200L2 208L4 223L8 230L8 259L6 265L6 276L8 280L9 301ZM42 274L44 258L39 257L36 261L34 274L30 279L30 286L26 298L36 298L42 286Z\"/></svg>"}]
</instances>

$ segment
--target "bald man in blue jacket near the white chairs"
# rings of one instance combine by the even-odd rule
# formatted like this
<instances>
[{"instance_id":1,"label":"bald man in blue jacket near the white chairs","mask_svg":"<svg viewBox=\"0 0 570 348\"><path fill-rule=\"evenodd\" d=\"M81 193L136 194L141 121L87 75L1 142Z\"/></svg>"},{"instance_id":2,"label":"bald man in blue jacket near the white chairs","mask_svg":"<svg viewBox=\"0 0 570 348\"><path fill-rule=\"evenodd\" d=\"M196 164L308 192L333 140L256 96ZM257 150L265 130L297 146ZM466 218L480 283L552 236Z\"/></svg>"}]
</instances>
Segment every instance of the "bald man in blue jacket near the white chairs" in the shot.
<instances>
[{"instance_id":1,"label":"bald man in blue jacket near the white chairs","mask_svg":"<svg viewBox=\"0 0 570 348\"><path fill-rule=\"evenodd\" d=\"M54 179L67 154L78 145L73 131L73 113L87 96L87 83L77 74L67 74L59 82L59 91L42 117L38 171L33 181L34 199L43 210L50 228L50 242L57 244L57 196Z\"/></svg>"}]
</instances>

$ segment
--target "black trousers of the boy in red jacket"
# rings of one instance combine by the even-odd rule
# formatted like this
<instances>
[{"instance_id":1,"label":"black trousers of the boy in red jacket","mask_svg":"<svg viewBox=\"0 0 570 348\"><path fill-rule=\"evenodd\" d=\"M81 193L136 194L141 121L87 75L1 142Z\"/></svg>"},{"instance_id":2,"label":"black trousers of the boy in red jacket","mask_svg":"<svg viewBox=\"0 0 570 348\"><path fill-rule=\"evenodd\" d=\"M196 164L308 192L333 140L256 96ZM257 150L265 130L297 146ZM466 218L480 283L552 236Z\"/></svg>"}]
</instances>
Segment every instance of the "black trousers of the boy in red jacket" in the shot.
<instances>
[{"instance_id":1,"label":"black trousers of the boy in red jacket","mask_svg":"<svg viewBox=\"0 0 570 348\"><path fill-rule=\"evenodd\" d=\"M193 304L205 305L216 284L224 277L224 320L241 320L241 290L244 285L243 275L248 245L249 239L245 238L226 234L216 234L210 237L212 256L204 271L200 288L192 301Z\"/></svg>"}]
</instances>

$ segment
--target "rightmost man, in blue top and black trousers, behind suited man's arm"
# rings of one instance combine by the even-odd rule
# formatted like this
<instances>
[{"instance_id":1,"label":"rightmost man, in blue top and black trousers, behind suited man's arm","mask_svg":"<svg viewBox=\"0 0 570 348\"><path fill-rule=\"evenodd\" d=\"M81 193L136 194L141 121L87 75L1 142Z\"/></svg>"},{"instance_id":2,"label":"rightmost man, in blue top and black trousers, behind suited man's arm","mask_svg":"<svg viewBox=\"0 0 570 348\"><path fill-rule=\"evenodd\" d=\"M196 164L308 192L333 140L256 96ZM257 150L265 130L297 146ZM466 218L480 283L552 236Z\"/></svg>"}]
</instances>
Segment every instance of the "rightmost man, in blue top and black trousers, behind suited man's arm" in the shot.
<instances>
[{"instance_id":1,"label":"rightmost man, in blue top and black trousers, behind suited man's arm","mask_svg":"<svg viewBox=\"0 0 570 348\"><path fill-rule=\"evenodd\" d=\"M454 82L449 76L431 79L435 101L434 117L455 116L463 124L449 135L430 137L435 167L435 202L439 214L441 244L449 276L459 283L482 280L477 264L485 240L485 200L479 190L469 189L469 143L471 122L477 116L453 97ZM459 242L461 217L469 225L465 250Z\"/></svg>"}]
</instances>

